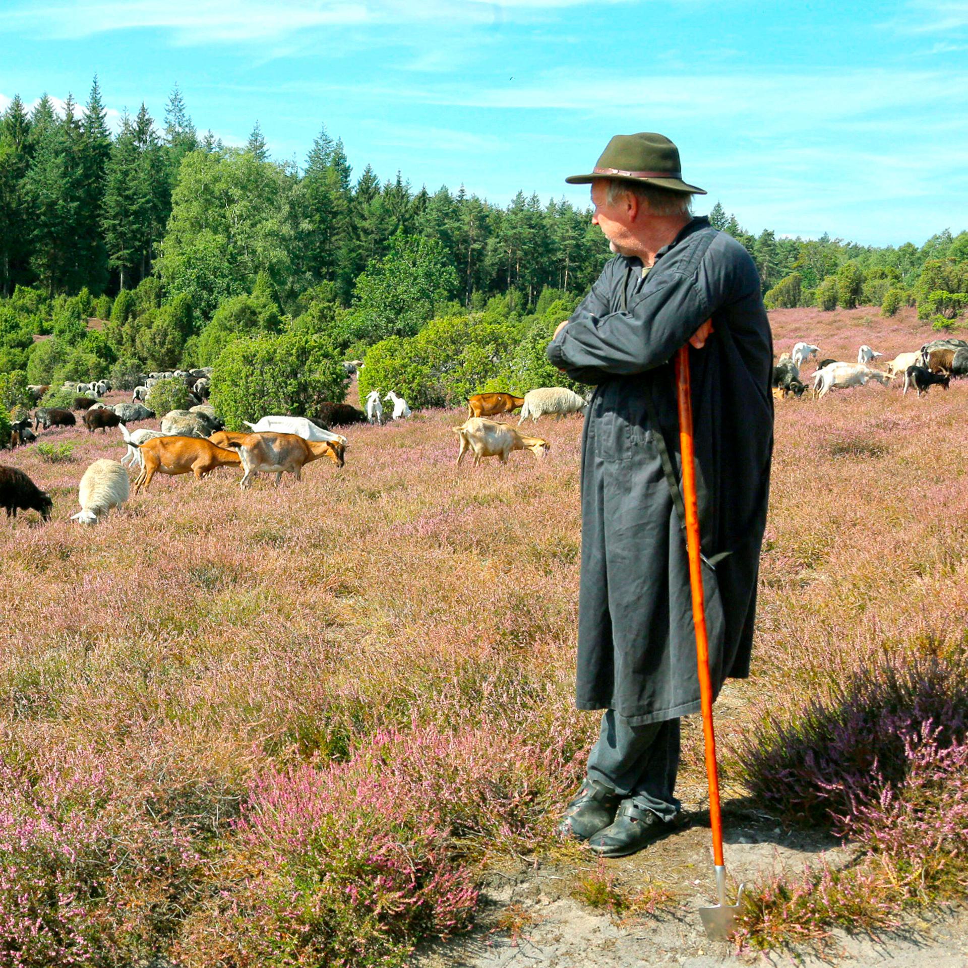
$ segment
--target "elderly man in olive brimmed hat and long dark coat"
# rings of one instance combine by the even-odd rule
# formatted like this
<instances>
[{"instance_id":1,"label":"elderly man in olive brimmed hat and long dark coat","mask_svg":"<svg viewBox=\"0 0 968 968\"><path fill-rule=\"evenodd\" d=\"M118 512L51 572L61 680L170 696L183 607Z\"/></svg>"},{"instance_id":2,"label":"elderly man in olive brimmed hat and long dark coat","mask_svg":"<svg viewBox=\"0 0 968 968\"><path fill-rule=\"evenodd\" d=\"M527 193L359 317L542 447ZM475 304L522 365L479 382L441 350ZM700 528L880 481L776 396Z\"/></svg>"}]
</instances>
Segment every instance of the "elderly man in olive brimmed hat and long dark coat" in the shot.
<instances>
[{"instance_id":1,"label":"elderly man in olive brimmed hat and long dark coat","mask_svg":"<svg viewBox=\"0 0 968 968\"><path fill-rule=\"evenodd\" d=\"M668 138L616 136L590 184L616 257L548 358L596 389L582 441L577 705L605 710L560 830L605 857L681 823L680 717L699 710L672 359L688 343L713 689L748 675L772 452L770 326L739 242L689 214Z\"/></svg>"}]
</instances>

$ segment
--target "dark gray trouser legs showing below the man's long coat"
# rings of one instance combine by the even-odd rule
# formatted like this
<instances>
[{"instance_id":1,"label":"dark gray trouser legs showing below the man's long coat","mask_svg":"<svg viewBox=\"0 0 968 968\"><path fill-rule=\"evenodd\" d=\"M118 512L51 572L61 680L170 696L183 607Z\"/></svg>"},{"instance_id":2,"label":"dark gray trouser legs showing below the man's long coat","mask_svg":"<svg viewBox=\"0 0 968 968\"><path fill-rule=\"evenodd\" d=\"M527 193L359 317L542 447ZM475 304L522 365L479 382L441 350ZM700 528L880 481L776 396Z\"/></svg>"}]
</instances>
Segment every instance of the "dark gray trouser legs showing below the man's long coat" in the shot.
<instances>
[{"instance_id":1,"label":"dark gray trouser legs showing below the man's long coat","mask_svg":"<svg viewBox=\"0 0 968 968\"><path fill-rule=\"evenodd\" d=\"M589 779L607 783L636 806L672 820L681 809L673 796L679 749L679 719L632 726L615 710L606 710L589 755Z\"/></svg>"}]
</instances>

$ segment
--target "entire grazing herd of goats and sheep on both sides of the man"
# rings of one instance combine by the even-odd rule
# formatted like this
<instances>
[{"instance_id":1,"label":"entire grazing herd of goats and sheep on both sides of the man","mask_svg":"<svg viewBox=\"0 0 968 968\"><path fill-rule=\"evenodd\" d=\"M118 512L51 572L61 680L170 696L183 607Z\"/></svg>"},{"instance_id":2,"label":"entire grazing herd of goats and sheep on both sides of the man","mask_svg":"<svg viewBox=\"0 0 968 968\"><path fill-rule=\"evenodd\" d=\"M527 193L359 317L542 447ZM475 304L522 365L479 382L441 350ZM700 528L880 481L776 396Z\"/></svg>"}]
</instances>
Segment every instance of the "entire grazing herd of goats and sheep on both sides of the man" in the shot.
<instances>
[{"instance_id":1,"label":"entire grazing herd of goats and sheep on both sides of the man","mask_svg":"<svg viewBox=\"0 0 968 968\"><path fill-rule=\"evenodd\" d=\"M819 352L819 347L798 343L792 353L783 353L773 368L773 394L777 398L802 397L807 387L800 377L801 367ZM833 389L862 386L872 379L889 385L903 377L904 392L914 387L921 397L936 383L947 389L952 377L968 376L968 343L962 340L935 340L915 352L901 353L885 370L869 365L882 355L862 346L857 363L820 360L812 378L814 395L821 398ZM184 379L193 394L192 406L168 412L161 421L161 430L129 431L129 423L155 417L143 401L161 379ZM130 403L108 406L96 399L111 389L106 380L71 384L68 389L77 393L74 409L82 412L88 432L106 433L108 428L118 427L127 446L121 461L97 460L84 471L78 487L80 510L72 515L72 520L94 525L124 503L131 494L129 467L137 469L134 494L146 490L159 473L192 473L200 480L212 470L230 466L243 470L242 488L250 487L259 473L275 474L278 487L284 473L300 480L302 469L323 457L339 468L344 466L348 440L331 428L364 422L381 424L384 402L392 405L390 419L410 416L403 397L392 390L385 395L373 390L366 397L365 411L348 404L323 404L316 417L263 416L257 423L247 422L247 432L227 431L215 408L206 402L209 386L209 374L204 371L151 374L136 386ZM30 387L37 400L47 389ZM92 393L96 396L92 397ZM515 450L529 450L535 457L543 458L550 449L547 440L530 437L517 427L491 418L520 409L520 426L528 417L536 421L549 414L560 417L582 413L587 406L586 398L563 387L542 387L523 397L510 393L475 394L468 401L467 420L453 428L460 442L457 463L460 465L465 455L472 453L475 465L485 457L498 457L503 464ZM69 409L37 408L33 416L15 422L11 445L36 440L36 432L42 426L73 427L76 417ZM53 501L22 470L0 466L0 506L6 508L8 517L15 517L17 510L35 510L49 520Z\"/></svg>"}]
</instances>

